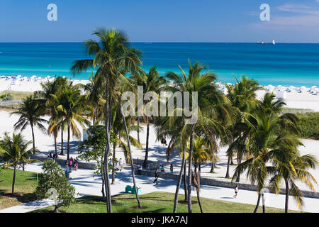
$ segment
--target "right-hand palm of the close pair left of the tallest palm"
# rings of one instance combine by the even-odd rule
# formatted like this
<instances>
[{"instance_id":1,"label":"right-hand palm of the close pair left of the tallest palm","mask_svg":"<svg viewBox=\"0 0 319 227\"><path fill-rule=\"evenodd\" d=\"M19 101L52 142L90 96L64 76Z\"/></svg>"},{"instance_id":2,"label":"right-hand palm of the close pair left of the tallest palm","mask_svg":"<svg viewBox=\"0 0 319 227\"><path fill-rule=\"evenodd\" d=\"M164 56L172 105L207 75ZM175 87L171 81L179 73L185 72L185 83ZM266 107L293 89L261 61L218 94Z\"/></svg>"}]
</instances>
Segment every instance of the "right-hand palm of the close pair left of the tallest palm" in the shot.
<instances>
[{"instance_id":1,"label":"right-hand palm of the close pair left of the tallest palm","mask_svg":"<svg viewBox=\"0 0 319 227\"><path fill-rule=\"evenodd\" d=\"M73 137L80 138L82 134L77 127L77 123L79 123L84 129L90 124L89 121L84 118L84 96L81 95L78 87L72 87L72 84L58 96L52 96L59 104L57 106L57 111L60 111L60 115L63 117L60 122L60 128L63 128L64 126L67 127L67 159L69 159L69 140L71 131Z\"/></svg>"}]
</instances>

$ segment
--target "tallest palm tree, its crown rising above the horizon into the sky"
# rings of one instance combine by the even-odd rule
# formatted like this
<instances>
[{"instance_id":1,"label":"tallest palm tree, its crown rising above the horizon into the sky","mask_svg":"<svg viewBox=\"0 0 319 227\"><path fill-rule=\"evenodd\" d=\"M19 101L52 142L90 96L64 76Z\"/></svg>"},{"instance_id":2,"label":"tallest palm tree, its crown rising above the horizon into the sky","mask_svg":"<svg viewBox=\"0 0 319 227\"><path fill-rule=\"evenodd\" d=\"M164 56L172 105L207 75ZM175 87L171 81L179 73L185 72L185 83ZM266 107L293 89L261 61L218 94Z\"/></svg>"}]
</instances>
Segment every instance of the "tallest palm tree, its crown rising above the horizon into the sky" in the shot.
<instances>
[{"instance_id":1,"label":"tallest palm tree, its crown rising above the horizon into the sky","mask_svg":"<svg viewBox=\"0 0 319 227\"><path fill-rule=\"evenodd\" d=\"M103 176L106 182L106 208L108 213L111 213L111 192L107 174L108 154L110 153L111 96L118 77L124 77L121 72L134 72L141 60L140 51L129 47L128 38L122 31L99 29L93 34L99 38L98 41L86 40L84 42L87 54L93 59L75 61L71 71L76 74L97 67L96 76L101 77L101 86L105 89L106 152L103 165L105 174Z\"/></svg>"}]
</instances>

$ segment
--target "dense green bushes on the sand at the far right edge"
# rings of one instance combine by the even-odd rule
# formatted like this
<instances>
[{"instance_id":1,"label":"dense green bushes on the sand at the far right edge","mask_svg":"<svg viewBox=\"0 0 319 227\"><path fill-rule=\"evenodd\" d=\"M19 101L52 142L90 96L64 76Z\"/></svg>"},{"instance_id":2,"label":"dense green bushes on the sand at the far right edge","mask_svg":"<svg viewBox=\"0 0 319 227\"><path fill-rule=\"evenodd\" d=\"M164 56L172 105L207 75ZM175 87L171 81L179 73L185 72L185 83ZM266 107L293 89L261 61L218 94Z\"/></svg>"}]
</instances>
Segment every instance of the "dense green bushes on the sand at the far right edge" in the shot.
<instances>
[{"instance_id":1,"label":"dense green bushes on the sand at the far right edge","mask_svg":"<svg viewBox=\"0 0 319 227\"><path fill-rule=\"evenodd\" d=\"M319 140L319 112L297 114L301 138Z\"/></svg>"}]
</instances>

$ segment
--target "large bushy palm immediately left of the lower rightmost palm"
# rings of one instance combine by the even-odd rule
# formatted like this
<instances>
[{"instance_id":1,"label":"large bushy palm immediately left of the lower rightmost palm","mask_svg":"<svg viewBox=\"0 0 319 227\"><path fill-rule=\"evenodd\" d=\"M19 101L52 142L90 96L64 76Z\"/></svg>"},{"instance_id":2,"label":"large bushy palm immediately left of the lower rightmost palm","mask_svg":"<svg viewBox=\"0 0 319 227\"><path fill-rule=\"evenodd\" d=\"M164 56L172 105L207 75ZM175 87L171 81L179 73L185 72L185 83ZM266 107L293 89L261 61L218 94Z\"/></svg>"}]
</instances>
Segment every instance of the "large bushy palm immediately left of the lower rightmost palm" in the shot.
<instances>
[{"instance_id":1,"label":"large bushy palm immediately left of the lower rightmost palm","mask_svg":"<svg viewBox=\"0 0 319 227\"><path fill-rule=\"evenodd\" d=\"M250 133L246 143L252 157L236 167L233 179L247 170L247 177L252 184L257 182L258 200L254 212L257 212L260 196L264 196L262 189L265 187L269 171L272 170L267 166L267 162L285 155L286 147L294 148L301 145L296 135L281 126L283 121L285 120L276 114L259 113L247 118ZM265 212L264 204L263 212Z\"/></svg>"}]
</instances>

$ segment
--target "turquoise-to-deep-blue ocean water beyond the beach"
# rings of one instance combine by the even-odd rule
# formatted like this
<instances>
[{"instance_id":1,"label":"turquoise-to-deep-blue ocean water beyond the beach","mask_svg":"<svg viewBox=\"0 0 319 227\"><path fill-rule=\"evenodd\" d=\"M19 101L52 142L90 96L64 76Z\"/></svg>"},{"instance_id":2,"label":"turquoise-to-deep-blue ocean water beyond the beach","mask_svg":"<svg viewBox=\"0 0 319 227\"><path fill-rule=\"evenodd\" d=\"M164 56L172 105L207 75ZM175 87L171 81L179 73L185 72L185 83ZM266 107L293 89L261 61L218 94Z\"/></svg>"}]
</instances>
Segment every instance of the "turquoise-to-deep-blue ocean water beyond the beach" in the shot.
<instances>
[{"instance_id":1,"label":"turquoise-to-deep-blue ocean water beyond the beach","mask_svg":"<svg viewBox=\"0 0 319 227\"><path fill-rule=\"evenodd\" d=\"M319 87L319 44L276 43L132 43L142 50L144 70L156 65L164 74L188 69L199 61L218 74L220 82L235 82L245 74L262 85ZM72 76L74 60L87 58L82 43L0 43L0 75L66 76L88 79L91 71Z\"/></svg>"}]
</instances>

